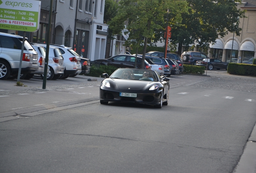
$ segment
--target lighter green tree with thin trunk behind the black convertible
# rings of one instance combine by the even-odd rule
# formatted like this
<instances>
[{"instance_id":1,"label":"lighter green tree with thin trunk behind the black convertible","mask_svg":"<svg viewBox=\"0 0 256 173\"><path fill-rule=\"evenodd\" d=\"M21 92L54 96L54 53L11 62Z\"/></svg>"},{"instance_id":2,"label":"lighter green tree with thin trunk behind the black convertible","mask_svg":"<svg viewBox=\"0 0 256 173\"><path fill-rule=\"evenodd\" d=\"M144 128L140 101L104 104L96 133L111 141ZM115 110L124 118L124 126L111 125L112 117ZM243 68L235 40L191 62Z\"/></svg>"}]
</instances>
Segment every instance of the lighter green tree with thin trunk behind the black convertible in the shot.
<instances>
[{"instance_id":1,"label":"lighter green tree with thin trunk behind the black convertible","mask_svg":"<svg viewBox=\"0 0 256 173\"><path fill-rule=\"evenodd\" d=\"M172 22L181 22L181 12L187 8L186 0L120 0L118 14L109 21L109 28L114 34L121 34L126 24L129 32L126 43L144 46L141 66L144 68L148 40L159 38L156 30L164 32L167 9L173 11Z\"/></svg>"}]
</instances>

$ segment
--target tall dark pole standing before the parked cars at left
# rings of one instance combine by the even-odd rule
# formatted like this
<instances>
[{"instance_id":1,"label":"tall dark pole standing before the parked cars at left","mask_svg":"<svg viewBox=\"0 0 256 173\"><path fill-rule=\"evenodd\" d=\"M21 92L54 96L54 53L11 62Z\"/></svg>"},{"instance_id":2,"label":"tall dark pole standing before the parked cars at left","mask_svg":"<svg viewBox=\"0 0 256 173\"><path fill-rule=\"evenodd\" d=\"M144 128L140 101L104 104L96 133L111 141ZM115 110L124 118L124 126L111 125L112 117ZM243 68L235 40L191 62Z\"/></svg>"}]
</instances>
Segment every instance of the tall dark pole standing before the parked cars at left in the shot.
<instances>
[{"instance_id":1,"label":"tall dark pole standing before the parked cars at left","mask_svg":"<svg viewBox=\"0 0 256 173\"><path fill-rule=\"evenodd\" d=\"M47 67L48 67L48 60L49 60L49 47L50 47L50 38L51 38L51 28L52 28L52 3L53 0L50 1L50 15L49 15L49 22L48 22L48 35L47 35L47 44L46 44L46 55L45 55L45 64L44 64L44 71L43 71L43 89L46 89L46 80L47 80Z\"/></svg>"}]
</instances>

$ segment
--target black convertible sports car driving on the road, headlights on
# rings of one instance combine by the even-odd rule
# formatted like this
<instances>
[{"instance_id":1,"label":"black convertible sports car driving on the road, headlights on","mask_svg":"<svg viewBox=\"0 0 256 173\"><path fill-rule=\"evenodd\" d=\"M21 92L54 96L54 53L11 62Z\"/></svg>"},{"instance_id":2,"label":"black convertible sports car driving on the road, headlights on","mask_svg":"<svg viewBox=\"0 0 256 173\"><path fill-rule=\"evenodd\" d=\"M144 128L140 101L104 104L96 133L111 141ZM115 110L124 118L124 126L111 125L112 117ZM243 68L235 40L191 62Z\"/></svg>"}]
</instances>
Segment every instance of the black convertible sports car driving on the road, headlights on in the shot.
<instances>
[{"instance_id":1,"label":"black convertible sports car driving on the road, headlights on","mask_svg":"<svg viewBox=\"0 0 256 173\"><path fill-rule=\"evenodd\" d=\"M108 102L140 103L161 108L168 105L169 78L153 70L119 68L101 82L101 104Z\"/></svg>"}]
</instances>

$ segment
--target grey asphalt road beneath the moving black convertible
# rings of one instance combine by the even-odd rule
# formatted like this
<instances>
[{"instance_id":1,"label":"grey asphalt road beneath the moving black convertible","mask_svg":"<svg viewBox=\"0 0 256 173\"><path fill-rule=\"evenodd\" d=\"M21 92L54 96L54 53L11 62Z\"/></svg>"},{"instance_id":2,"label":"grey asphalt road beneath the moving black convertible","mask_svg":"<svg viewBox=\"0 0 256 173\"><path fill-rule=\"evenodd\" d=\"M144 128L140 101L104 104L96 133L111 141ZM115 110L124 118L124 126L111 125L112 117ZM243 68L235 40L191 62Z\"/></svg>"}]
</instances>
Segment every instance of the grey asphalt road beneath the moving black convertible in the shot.
<instances>
[{"instance_id":1,"label":"grey asphalt road beneath the moving black convertible","mask_svg":"<svg viewBox=\"0 0 256 173\"><path fill-rule=\"evenodd\" d=\"M15 121L0 123L0 172L233 172L256 122L253 89L229 88L239 78L225 82L223 71L172 76L169 105L161 110L100 105L100 79L49 82L44 91L8 91L1 82L0 120L18 114ZM2 111L2 105L8 108ZM55 107L47 109L50 105ZM34 107L44 109L31 112Z\"/></svg>"}]
</instances>

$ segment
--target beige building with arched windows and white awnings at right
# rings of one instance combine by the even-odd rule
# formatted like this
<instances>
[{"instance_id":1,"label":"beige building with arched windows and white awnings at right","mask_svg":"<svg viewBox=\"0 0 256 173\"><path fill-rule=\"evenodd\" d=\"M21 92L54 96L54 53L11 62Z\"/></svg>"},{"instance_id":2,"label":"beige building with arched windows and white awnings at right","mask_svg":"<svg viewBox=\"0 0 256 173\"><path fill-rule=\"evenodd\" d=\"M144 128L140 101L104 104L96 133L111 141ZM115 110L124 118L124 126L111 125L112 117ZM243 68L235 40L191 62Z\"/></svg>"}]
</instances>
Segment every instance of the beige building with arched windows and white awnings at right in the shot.
<instances>
[{"instance_id":1,"label":"beige building with arched windows and white awnings at right","mask_svg":"<svg viewBox=\"0 0 256 173\"><path fill-rule=\"evenodd\" d=\"M237 3L237 8L246 10L246 17L241 18L239 27L242 28L240 36L229 33L223 38L217 38L216 43L210 44L209 57L223 62L242 63L250 58L256 58L256 1L243 0Z\"/></svg>"}]
</instances>

